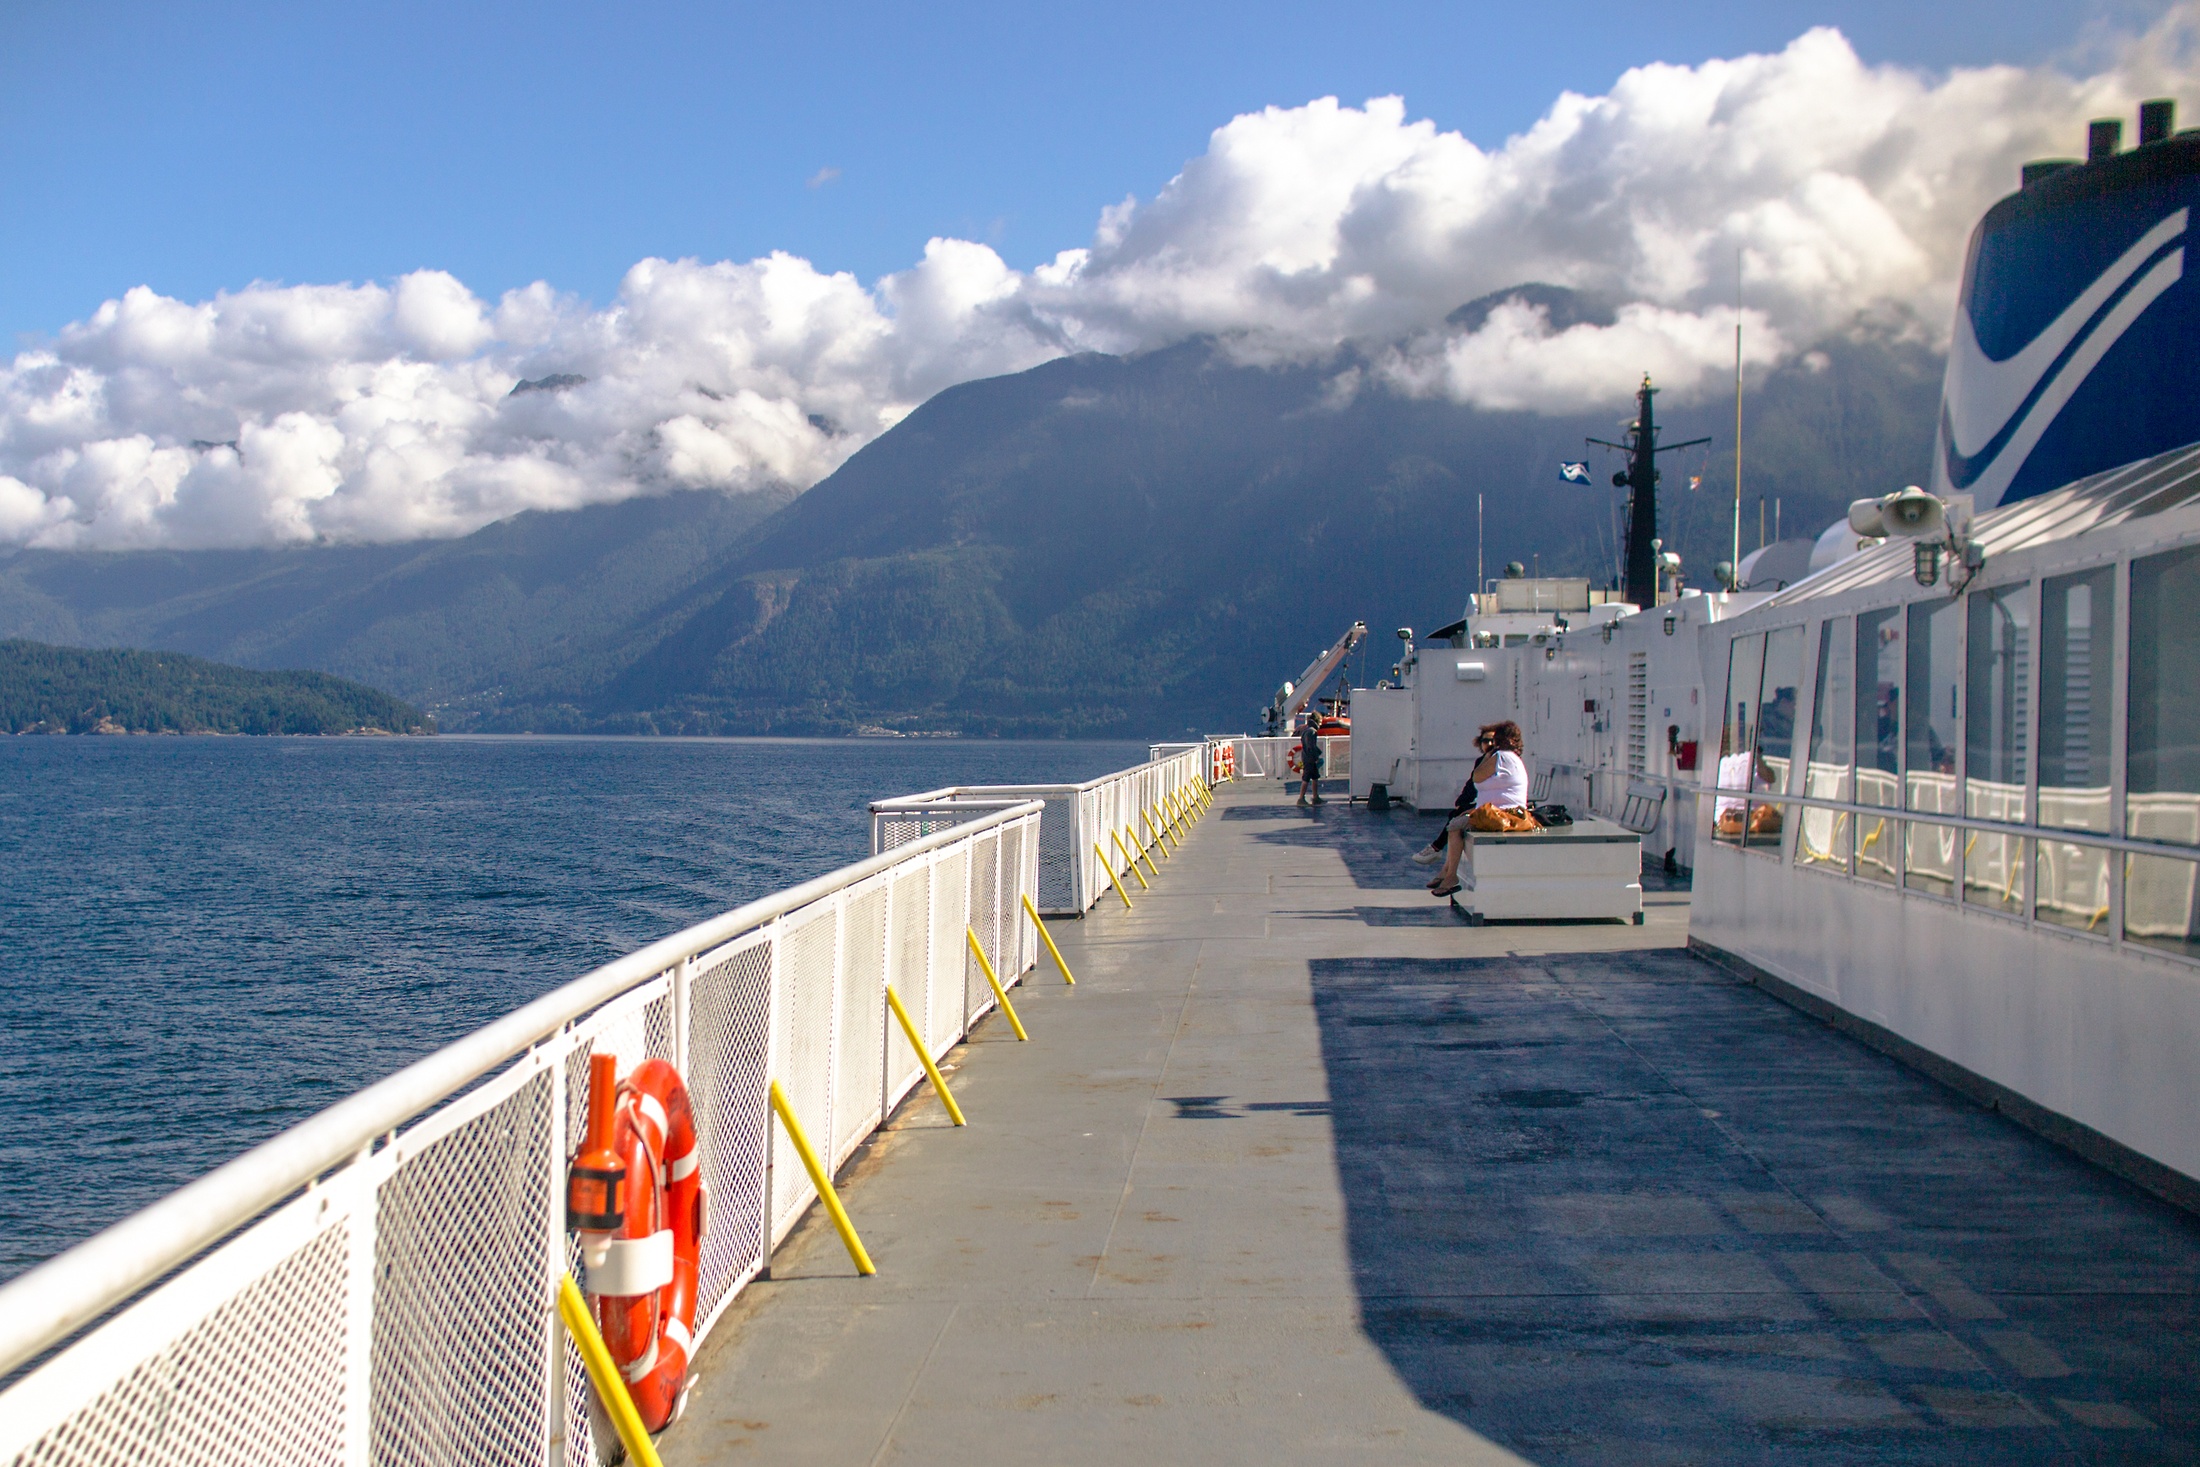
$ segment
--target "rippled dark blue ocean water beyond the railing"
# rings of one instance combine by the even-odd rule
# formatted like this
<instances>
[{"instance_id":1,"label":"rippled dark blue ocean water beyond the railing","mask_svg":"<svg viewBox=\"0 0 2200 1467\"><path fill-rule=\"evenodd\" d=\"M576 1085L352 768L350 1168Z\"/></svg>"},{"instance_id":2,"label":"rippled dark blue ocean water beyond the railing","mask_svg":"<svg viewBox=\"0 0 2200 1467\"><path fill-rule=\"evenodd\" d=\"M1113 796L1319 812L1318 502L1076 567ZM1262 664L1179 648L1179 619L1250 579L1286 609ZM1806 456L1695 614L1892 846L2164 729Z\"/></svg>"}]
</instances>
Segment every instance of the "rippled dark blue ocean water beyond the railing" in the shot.
<instances>
[{"instance_id":1,"label":"rippled dark blue ocean water beyond the railing","mask_svg":"<svg viewBox=\"0 0 2200 1467\"><path fill-rule=\"evenodd\" d=\"M581 972L1142 743L0 739L0 1278Z\"/></svg>"}]
</instances>

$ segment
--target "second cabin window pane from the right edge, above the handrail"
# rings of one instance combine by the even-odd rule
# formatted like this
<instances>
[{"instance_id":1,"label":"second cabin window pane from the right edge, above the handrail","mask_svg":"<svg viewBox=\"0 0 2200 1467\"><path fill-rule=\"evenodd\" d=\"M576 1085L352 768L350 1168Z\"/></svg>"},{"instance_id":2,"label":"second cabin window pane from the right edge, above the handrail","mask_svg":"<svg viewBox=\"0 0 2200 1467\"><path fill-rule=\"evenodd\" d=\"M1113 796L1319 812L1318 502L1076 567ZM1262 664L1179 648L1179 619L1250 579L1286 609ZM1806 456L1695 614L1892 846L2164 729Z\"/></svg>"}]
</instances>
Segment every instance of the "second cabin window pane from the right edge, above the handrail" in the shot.
<instances>
[{"instance_id":1,"label":"second cabin window pane from the right edge, above the handrail","mask_svg":"<svg viewBox=\"0 0 2200 1467\"><path fill-rule=\"evenodd\" d=\"M2039 823L2110 831L2108 702L2116 567L2039 585Z\"/></svg>"}]
</instances>

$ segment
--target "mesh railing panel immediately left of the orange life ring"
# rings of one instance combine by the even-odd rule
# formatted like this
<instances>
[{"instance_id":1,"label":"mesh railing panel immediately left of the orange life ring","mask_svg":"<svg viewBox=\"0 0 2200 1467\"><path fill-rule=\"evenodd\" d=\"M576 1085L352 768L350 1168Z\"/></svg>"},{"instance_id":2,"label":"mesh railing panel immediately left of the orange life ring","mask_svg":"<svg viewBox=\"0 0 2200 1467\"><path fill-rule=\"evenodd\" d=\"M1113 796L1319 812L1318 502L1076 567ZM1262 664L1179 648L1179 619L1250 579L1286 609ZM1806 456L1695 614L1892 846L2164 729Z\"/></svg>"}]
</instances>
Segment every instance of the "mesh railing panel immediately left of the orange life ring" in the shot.
<instances>
[{"instance_id":1,"label":"mesh railing panel immediately left of the orange life ring","mask_svg":"<svg viewBox=\"0 0 2200 1467\"><path fill-rule=\"evenodd\" d=\"M552 1104L541 1071L376 1194L376 1467L543 1460Z\"/></svg>"}]
</instances>

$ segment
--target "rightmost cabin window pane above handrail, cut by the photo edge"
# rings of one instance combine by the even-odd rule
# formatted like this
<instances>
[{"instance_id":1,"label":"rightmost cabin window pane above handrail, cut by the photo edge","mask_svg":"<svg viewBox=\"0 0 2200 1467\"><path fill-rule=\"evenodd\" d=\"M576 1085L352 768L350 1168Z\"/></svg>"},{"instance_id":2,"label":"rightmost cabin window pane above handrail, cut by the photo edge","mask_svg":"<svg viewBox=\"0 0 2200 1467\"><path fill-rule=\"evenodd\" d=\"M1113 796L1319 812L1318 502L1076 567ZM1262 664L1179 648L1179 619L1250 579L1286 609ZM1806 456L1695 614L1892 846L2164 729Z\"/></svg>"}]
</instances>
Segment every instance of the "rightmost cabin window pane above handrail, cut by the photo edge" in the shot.
<instances>
[{"instance_id":1,"label":"rightmost cabin window pane above handrail, cut by the photo edge","mask_svg":"<svg viewBox=\"0 0 2200 1467\"><path fill-rule=\"evenodd\" d=\"M2200 845L2200 545L2132 561L2125 834Z\"/></svg>"}]
</instances>

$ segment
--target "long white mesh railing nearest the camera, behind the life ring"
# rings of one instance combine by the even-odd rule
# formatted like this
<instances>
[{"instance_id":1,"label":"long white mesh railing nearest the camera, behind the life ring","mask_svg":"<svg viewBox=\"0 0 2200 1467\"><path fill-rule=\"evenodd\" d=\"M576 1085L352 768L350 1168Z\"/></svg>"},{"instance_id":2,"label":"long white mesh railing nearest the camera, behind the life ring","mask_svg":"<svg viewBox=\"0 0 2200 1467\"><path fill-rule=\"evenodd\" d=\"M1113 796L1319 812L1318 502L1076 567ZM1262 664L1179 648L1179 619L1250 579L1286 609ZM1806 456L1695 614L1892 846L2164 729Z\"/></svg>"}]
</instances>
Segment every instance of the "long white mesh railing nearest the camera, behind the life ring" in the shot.
<instances>
[{"instance_id":1,"label":"long white mesh railing nearest the camera, behind the life ring","mask_svg":"<svg viewBox=\"0 0 2200 1467\"><path fill-rule=\"evenodd\" d=\"M768 1084L840 1166L924 1073L884 985L946 1054L994 1005L966 928L1014 983L1038 880L1041 805L994 798L607 963L31 1269L0 1287L0 1372L81 1335L0 1392L0 1463L609 1460L554 1306L590 1056L686 1076L700 1339L816 1196Z\"/></svg>"}]
</instances>

